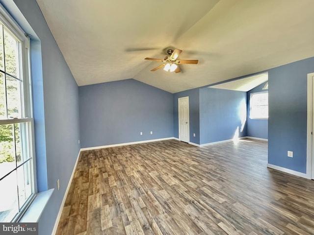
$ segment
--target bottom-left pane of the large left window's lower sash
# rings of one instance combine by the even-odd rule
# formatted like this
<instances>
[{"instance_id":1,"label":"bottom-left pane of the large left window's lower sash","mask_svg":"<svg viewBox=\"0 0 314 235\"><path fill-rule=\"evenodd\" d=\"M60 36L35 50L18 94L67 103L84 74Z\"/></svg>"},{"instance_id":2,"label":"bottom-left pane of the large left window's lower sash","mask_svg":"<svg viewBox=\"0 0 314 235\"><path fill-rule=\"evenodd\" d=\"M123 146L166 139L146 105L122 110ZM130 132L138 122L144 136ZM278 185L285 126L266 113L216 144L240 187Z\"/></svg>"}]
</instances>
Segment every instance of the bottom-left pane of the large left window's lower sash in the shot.
<instances>
[{"instance_id":1,"label":"bottom-left pane of the large left window's lower sash","mask_svg":"<svg viewBox=\"0 0 314 235\"><path fill-rule=\"evenodd\" d=\"M0 221L10 222L19 211L16 170L0 181ZM3 190L5 188L5 190Z\"/></svg>"}]
</instances>

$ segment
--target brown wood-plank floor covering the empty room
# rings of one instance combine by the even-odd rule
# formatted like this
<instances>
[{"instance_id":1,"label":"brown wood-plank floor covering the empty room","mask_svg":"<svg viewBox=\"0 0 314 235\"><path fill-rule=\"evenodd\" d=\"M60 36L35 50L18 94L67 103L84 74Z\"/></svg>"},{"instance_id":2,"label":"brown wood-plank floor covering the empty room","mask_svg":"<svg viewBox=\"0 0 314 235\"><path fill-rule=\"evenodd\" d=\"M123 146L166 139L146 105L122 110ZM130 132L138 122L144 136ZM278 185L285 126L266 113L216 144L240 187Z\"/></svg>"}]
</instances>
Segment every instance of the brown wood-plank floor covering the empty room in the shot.
<instances>
[{"instance_id":1,"label":"brown wood-plank floor covering the empty room","mask_svg":"<svg viewBox=\"0 0 314 235\"><path fill-rule=\"evenodd\" d=\"M267 142L169 140L81 153L57 235L313 235L314 181Z\"/></svg>"}]
</instances>

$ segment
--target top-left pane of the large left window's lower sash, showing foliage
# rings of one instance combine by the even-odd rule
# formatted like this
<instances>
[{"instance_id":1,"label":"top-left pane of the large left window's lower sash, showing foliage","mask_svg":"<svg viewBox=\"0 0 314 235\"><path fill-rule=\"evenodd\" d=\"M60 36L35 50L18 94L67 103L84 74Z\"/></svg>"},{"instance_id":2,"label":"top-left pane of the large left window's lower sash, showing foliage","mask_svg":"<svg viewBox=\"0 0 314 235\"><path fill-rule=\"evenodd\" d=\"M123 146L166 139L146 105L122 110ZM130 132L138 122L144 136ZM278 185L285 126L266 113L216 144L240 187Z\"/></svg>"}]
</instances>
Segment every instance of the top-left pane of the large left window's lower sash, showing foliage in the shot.
<instances>
[{"instance_id":1,"label":"top-left pane of the large left window's lower sash, showing foliage","mask_svg":"<svg viewBox=\"0 0 314 235\"><path fill-rule=\"evenodd\" d=\"M0 125L0 178L16 167L13 133L12 124Z\"/></svg>"}]
</instances>

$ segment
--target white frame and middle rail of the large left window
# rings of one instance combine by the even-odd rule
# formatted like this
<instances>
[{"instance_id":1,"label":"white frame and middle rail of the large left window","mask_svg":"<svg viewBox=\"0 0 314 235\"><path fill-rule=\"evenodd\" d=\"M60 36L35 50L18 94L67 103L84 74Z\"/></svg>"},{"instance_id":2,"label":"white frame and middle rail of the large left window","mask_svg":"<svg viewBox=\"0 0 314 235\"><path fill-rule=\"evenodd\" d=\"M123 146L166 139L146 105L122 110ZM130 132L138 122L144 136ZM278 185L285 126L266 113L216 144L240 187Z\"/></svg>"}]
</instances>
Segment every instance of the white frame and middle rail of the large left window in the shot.
<instances>
[{"instance_id":1,"label":"white frame and middle rail of the large left window","mask_svg":"<svg viewBox=\"0 0 314 235\"><path fill-rule=\"evenodd\" d=\"M22 28L15 22L11 15L0 4L0 22L3 28L11 32L18 41L20 41L19 61L21 72L21 113L22 118L6 118L0 119L0 125L15 124L15 123L29 123L28 125L28 152L29 160L24 160L22 164L18 164L15 167L17 170L19 167L23 167L27 162L30 163L30 179L31 179L31 195L26 199L23 206L19 208L18 213L13 217L11 222L18 222L31 202L34 200L37 194L37 181L36 181L36 158L35 158L35 141L34 141L34 118L33 118L33 103L32 103L32 90L31 90L31 66L30 66L30 40L28 35L22 30ZM4 54L3 54L4 56ZM4 73L5 74L5 73ZM21 130L23 132L23 130ZM5 177L5 176L4 176Z\"/></svg>"}]
</instances>

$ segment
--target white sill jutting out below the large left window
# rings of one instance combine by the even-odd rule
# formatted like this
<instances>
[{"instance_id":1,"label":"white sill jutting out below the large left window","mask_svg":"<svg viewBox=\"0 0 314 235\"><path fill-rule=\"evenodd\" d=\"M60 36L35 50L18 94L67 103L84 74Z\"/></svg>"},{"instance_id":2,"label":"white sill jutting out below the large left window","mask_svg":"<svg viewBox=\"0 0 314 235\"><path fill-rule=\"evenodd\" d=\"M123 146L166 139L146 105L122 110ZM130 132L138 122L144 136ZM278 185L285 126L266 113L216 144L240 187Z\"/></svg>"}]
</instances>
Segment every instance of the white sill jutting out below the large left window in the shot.
<instances>
[{"instance_id":1,"label":"white sill jutting out below the large left window","mask_svg":"<svg viewBox=\"0 0 314 235\"><path fill-rule=\"evenodd\" d=\"M37 223L52 196L54 188L37 193L35 199L20 219L20 223Z\"/></svg>"}]
</instances>

